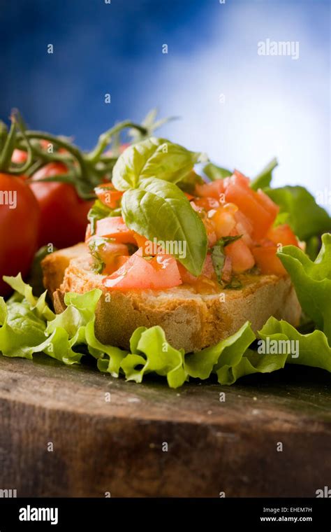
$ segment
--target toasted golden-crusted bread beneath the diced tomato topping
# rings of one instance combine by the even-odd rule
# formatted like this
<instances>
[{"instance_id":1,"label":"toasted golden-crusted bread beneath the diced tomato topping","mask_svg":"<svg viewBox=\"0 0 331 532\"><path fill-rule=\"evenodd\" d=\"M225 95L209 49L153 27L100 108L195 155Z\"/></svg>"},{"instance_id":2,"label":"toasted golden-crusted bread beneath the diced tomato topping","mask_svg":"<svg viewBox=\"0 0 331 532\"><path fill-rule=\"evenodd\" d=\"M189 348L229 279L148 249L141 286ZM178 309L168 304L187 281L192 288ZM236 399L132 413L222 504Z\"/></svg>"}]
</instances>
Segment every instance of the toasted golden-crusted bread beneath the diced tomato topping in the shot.
<instances>
[{"instance_id":1,"label":"toasted golden-crusted bread beneath the diced tomato topping","mask_svg":"<svg viewBox=\"0 0 331 532\"><path fill-rule=\"evenodd\" d=\"M68 260L70 252L64 251ZM288 276L243 275L242 289L218 294L196 293L184 285L168 290L109 291L103 286L104 276L91 272L85 249L74 246L71 253L73 258L65 271L60 272L65 260L59 251L43 261L45 287L52 290L58 313L65 309L66 292L85 293L100 288L103 295L96 309L96 337L104 344L128 349L135 328L161 325L176 349L198 351L232 335L247 320L254 331L270 316L294 326L300 320L300 304ZM51 279L55 270L56 279Z\"/></svg>"}]
</instances>

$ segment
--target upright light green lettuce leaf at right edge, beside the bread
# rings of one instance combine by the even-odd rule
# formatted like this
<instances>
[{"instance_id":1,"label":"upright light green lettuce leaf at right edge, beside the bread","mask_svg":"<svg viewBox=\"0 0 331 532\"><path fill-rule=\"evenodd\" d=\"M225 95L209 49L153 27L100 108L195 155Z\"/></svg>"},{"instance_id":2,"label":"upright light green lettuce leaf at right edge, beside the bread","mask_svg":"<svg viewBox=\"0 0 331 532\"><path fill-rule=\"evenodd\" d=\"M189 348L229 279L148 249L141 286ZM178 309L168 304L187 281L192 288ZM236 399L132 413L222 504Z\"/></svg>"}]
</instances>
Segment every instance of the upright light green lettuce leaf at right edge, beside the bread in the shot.
<instances>
[{"instance_id":1,"label":"upright light green lettuce leaf at right edge, beside the bread","mask_svg":"<svg viewBox=\"0 0 331 532\"><path fill-rule=\"evenodd\" d=\"M284 246L277 255L290 274L302 310L331 344L331 235L323 235L314 262L296 246Z\"/></svg>"}]
</instances>

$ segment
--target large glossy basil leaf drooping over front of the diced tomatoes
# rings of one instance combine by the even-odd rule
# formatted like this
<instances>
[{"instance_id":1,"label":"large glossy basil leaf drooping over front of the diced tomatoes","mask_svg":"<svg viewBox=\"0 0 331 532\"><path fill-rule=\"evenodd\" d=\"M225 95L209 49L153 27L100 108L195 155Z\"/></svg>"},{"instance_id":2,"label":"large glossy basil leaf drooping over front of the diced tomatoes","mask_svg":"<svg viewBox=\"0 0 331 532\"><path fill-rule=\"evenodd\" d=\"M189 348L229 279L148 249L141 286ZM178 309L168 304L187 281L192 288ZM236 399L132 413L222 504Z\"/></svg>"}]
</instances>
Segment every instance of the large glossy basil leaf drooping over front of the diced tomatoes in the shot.
<instances>
[{"instance_id":1,"label":"large glossy basil leaf drooping over front of the diced tomatoes","mask_svg":"<svg viewBox=\"0 0 331 532\"><path fill-rule=\"evenodd\" d=\"M198 276L207 255L207 233L200 217L174 183L150 178L126 190L122 214L128 228L149 240L169 243L179 262ZM181 251L184 251L181 252Z\"/></svg>"}]
</instances>

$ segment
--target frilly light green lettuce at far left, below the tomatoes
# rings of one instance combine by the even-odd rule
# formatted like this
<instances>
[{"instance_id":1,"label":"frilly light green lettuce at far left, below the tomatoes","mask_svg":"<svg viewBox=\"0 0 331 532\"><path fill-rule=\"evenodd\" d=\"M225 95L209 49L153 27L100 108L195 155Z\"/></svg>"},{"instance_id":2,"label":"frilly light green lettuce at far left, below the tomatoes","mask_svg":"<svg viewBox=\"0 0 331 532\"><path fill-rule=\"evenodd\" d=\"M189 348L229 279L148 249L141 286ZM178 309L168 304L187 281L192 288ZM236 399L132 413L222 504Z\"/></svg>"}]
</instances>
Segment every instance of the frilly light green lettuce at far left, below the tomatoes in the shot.
<instances>
[{"instance_id":1,"label":"frilly light green lettuce at far left, below the tomatoes","mask_svg":"<svg viewBox=\"0 0 331 532\"><path fill-rule=\"evenodd\" d=\"M31 287L17 277L6 277L12 288L19 290L7 304L0 298L0 351L4 356L32 358L43 352L65 364L79 363L87 346L94 358L108 357L111 373L118 377L126 351L106 346L94 334L95 311L101 290L84 294L67 293L66 309L55 315L45 303L45 293L38 299Z\"/></svg>"}]
</instances>

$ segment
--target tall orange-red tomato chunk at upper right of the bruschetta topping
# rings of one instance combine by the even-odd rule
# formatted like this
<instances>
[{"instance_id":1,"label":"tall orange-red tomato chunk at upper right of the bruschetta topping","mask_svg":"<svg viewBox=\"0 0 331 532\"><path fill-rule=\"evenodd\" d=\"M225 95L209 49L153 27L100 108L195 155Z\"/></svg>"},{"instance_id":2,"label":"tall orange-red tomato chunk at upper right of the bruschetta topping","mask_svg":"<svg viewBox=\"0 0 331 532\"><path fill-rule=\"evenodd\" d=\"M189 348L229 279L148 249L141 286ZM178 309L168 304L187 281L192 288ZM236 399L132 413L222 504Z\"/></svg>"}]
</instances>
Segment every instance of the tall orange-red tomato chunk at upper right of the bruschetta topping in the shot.
<instances>
[{"instance_id":1,"label":"tall orange-red tomato chunk at upper right of the bruschetta topping","mask_svg":"<svg viewBox=\"0 0 331 532\"><path fill-rule=\"evenodd\" d=\"M270 210L265 209L258 194L248 186L241 184L240 181L242 179L237 176L229 179L225 192L226 201L236 204L240 211L249 218L253 225L252 237L260 240L274 223L277 212L271 213Z\"/></svg>"}]
</instances>

